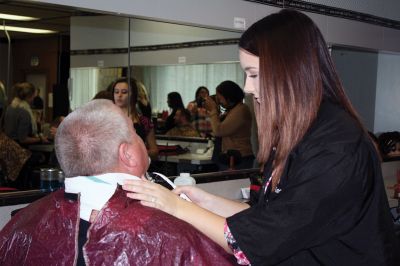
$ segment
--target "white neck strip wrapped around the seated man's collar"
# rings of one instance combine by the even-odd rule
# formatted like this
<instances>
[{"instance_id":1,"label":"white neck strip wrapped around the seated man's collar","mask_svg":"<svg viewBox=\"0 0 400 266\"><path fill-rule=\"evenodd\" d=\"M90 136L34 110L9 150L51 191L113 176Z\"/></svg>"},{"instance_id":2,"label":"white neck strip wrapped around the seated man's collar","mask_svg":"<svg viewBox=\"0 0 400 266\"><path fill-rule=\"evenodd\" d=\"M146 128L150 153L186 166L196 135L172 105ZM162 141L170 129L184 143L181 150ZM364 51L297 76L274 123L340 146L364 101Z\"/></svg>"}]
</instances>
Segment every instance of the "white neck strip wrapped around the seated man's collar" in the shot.
<instances>
[{"instance_id":1,"label":"white neck strip wrapped around the seated man's collar","mask_svg":"<svg viewBox=\"0 0 400 266\"><path fill-rule=\"evenodd\" d=\"M65 192L80 193L79 216L89 221L92 210L100 211L114 194L117 185L122 185L126 179L140 178L124 173L69 177L65 179Z\"/></svg>"}]
</instances>

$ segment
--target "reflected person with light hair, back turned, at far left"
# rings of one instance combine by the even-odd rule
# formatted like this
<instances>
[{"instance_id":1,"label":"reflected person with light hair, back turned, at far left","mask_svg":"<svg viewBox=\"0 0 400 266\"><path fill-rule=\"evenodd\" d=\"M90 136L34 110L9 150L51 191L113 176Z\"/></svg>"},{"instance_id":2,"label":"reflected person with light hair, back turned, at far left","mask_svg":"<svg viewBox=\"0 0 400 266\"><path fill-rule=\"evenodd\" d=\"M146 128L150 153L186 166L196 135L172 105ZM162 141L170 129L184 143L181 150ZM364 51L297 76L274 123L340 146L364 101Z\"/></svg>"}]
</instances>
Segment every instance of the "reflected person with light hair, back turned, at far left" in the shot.
<instances>
[{"instance_id":1,"label":"reflected person with light hair, back turned, at far left","mask_svg":"<svg viewBox=\"0 0 400 266\"><path fill-rule=\"evenodd\" d=\"M4 132L21 145L47 143L47 138L38 134L31 103L36 96L35 87L28 82L13 87L15 97L4 114Z\"/></svg>"}]
</instances>

